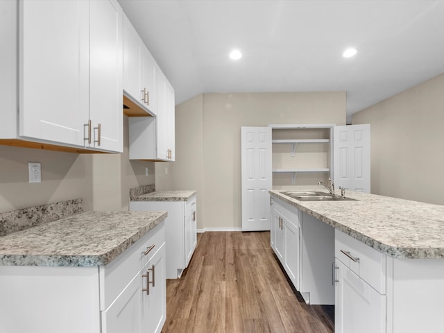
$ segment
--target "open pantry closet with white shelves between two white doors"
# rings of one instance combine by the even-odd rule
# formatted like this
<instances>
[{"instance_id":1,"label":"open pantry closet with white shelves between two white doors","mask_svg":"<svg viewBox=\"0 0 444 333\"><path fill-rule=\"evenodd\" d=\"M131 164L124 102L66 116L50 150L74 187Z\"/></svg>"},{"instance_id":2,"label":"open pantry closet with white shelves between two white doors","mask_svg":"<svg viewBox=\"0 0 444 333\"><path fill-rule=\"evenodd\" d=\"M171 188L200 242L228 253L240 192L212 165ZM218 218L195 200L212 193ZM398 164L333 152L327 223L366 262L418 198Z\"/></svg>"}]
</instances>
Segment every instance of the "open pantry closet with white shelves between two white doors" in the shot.
<instances>
[{"instance_id":1,"label":"open pantry closet with white shelves between two white doors","mask_svg":"<svg viewBox=\"0 0 444 333\"><path fill-rule=\"evenodd\" d=\"M272 128L273 188L316 185L332 174L334 124L268 125Z\"/></svg>"}]
</instances>

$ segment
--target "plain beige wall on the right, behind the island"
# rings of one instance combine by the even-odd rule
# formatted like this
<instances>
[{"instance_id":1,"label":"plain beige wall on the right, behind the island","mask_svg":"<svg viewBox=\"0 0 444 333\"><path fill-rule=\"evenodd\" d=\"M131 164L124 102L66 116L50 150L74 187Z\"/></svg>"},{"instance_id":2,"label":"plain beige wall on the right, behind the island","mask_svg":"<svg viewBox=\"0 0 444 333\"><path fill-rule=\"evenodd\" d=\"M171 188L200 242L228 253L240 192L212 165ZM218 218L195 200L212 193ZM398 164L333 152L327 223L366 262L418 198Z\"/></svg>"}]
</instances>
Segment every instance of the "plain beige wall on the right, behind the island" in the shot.
<instances>
[{"instance_id":1,"label":"plain beige wall on the right, behind the island","mask_svg":"<svg viewBox=\"0 0 444 333\"><path fill-rule=\"evenodd\" d=\"M444 205L444 74L362 110L374 194Z\"/></svg>"}]
</instances>

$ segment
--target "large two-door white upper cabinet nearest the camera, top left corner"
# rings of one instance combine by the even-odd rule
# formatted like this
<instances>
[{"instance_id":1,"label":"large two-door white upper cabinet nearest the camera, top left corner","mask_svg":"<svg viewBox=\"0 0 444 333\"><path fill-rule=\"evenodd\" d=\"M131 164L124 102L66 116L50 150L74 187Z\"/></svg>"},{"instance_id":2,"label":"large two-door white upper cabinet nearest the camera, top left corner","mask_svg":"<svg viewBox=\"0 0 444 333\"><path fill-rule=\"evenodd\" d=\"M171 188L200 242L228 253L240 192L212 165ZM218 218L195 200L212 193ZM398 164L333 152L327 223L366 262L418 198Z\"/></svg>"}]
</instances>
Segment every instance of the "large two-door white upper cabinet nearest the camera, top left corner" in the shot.
<instances>
[{"instance_id":1,"label":"large two-door white upper cabinet nearest the camera, top left corner","mask_svg":"<svg viewBox=\"0 0 444 333\"><path fill-rule=\"evenodd\" d=\"M76 152L123 151L119 3L7 3L7 8L1 3L2 9L18 17L18 24L9 26L10 35L2 34L1 42L17 49L18 41L18 62L11 58L5 66L18 68L9 77L18 80L19 98L18 105L6 109L13 126L0 128L0 143ZM0 81L2 86L11 84L8 78Z\"/></svg>"}]
</instances>

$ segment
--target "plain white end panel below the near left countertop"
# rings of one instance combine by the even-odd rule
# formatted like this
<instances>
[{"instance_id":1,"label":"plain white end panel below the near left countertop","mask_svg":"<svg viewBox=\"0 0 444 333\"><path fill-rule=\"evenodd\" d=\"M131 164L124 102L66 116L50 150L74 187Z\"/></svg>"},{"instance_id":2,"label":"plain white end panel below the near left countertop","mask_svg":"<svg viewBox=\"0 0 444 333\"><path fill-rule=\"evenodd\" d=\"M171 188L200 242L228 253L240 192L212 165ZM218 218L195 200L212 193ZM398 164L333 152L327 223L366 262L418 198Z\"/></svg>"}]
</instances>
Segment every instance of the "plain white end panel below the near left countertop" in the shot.
<instances>
[{"instance_id":1,"label":"plain white end panel below the near left countertop","mask_svg":"<svg viewBox=\"0 0 444 333\"><path fill-rule=\"evenodd\" d=\"M0 266L0 332L100 332L99 268Z\"/></svg>"}]
</instances>

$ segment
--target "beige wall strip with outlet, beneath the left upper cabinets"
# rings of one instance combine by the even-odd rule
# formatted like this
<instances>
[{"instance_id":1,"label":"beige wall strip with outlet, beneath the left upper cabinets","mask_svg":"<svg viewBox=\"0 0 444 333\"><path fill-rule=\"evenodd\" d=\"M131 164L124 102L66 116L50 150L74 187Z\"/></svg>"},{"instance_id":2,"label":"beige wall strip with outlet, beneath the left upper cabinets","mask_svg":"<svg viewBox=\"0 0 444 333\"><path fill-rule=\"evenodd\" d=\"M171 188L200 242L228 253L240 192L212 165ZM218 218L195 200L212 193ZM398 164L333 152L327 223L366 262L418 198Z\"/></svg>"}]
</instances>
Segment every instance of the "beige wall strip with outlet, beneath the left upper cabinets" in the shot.
<instances>
[{"instance_id":1,"label":"beige wall strip with outlet, beneath the left upper cabinets","mask_svg":"<svg viewBox=\"0 0 444 333\"><path fill-rule=\"evenodd\" d=\"M131 187L153 184L153 162L128 160L128 119L122 154L83 154L0 146L0 212L83 198L84 210L128 210ZM40 162L42 182L28 182L28 162ZM148 174L145 176L145 167Z\"/></svg>"}]
</instances>

